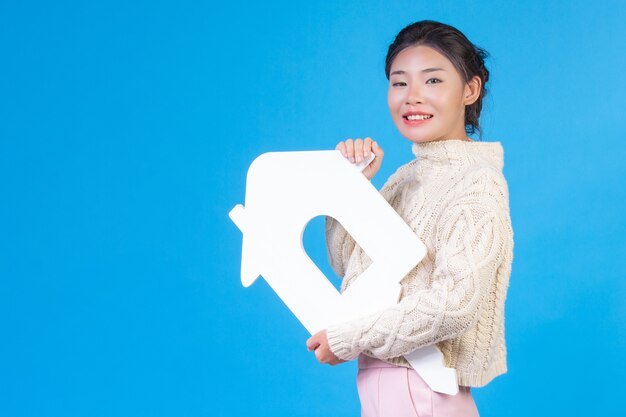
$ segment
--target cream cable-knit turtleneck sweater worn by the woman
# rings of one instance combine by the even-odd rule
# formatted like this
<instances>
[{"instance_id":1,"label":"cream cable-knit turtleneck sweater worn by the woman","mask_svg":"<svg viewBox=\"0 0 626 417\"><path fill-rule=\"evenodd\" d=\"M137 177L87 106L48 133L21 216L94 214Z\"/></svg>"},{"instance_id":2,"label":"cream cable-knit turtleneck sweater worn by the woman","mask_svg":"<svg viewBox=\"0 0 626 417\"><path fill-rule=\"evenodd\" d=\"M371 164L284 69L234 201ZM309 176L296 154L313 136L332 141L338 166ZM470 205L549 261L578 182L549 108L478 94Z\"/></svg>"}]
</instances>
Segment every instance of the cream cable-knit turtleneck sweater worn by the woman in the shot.
<instances>
[{"instance_id":1,"label":"cream cable-knit turtleneck sweater worn by the woman","mask_svg":"<svg viewBox=\"0 0 626 417\"><path fill-rule=\"evenodd\" d=\"M397 305L329 326L330 349L344 360L363 352L411 367L402 355L437 344L459 385L484 386L507 371L504 301L513 230L502 146L452 139L414 143L412 150L416 158L380 193L427 254L403 278ZM331 217L326 240L343 292L372 261Z\"/></svg>"}]
</instances>

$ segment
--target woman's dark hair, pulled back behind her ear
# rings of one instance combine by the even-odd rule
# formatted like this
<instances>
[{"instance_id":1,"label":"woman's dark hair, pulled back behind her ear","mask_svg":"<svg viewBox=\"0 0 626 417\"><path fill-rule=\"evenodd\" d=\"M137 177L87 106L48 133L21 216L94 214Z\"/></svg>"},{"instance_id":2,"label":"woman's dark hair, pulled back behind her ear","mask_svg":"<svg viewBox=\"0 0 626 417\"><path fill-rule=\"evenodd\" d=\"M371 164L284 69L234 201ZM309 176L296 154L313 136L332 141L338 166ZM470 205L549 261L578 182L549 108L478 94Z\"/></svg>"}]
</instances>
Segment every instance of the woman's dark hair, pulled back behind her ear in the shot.
<instances>
[{"instance_id":1,"label":"woman's dark hair, pulled back behind her ear","mask_svg":"<svg viewBox=\"0 0 626 417\"><path fill-rule=\"evenodd\" d=\"M465 107L465 131L472 134L482 130L478 122L482 110L483 98L487 95L485 84L489 80L489 71L485 67L485 58L489 53L474 45L458 29L433 20L421 20L402 29L387 51L385 75L389 79L391 64L396 56L410 46L426 45L444 55L457 69L464 83L475 75L480 77L481 92L478 99Z\"/></svg>"}]
</instances>

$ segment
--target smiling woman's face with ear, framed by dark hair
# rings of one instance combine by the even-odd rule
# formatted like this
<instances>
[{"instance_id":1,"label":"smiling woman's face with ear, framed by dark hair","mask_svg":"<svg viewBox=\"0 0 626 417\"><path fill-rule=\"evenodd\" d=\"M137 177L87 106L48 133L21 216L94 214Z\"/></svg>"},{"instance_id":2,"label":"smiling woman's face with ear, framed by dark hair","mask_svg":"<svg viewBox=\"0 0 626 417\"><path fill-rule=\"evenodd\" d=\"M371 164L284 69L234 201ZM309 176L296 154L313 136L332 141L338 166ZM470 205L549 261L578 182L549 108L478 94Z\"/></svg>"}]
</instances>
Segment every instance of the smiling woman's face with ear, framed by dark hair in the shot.
<instances>
[{"instance_id":1,"label":"smiling woman's face with ear, framed by dark hair","mask_svg":"<svg viewBox=\"0 0 626 417\"><path fill-rule=\"evenodd\" d=\"M480 86L478 77L465 84L452 62L429 46L403 49L391 64L391 117L412 142L467 140L465 106L478 98L480 88L472 88L476 82Z\"/></svg>"}]
</instances>

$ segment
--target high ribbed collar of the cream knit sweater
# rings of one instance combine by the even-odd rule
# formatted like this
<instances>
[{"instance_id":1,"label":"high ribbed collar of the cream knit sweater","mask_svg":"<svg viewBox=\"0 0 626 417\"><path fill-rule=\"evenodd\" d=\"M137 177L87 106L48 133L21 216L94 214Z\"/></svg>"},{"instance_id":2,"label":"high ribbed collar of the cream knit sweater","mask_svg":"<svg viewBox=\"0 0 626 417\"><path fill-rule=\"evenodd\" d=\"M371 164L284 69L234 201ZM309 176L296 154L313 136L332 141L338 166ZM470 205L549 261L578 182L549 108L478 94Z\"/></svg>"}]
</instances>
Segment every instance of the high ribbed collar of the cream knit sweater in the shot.
<instances>
[{"instance_id":1,"label":"high ribbed collar of the cream knit sweater","mask_svg":"<svg viewBox=\"0 0 626 417\"><path fill-rule=\"evenodd\" d=\"M499 171L504 166L504 150L500 142L476 142L446 139L412 145L415 157L433 166L459 166L483 163Z\"/></svg>"}]
</instances>

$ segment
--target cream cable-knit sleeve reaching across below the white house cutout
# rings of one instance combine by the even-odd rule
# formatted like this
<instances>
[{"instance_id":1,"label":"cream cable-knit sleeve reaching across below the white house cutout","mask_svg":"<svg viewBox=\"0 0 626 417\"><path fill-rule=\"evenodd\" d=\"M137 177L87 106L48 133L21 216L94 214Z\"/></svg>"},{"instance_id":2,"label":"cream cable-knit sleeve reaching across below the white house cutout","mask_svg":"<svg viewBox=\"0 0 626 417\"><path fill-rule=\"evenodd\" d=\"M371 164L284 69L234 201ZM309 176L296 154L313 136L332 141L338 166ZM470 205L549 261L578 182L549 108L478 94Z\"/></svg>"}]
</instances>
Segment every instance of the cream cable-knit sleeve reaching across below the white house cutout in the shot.
<instances>
[{"instance_id":1,"label":"cream cable-knit sleeve reaching across below the white house cutout","mask_svg":"<svg viewBox=\"0 0 626 417\"><path fill-rule=\"evenodd\" d=\"M506 241L501 208L489 199L475 197L442 212L431 279L425 288L406 295L391 308L329 326L328 340L335 355L344 360L352 360L360 352L395 358L458 337L475 325L481 305L495 292Z\"/></svg>"}]
</instances>

